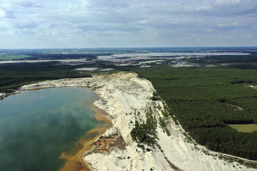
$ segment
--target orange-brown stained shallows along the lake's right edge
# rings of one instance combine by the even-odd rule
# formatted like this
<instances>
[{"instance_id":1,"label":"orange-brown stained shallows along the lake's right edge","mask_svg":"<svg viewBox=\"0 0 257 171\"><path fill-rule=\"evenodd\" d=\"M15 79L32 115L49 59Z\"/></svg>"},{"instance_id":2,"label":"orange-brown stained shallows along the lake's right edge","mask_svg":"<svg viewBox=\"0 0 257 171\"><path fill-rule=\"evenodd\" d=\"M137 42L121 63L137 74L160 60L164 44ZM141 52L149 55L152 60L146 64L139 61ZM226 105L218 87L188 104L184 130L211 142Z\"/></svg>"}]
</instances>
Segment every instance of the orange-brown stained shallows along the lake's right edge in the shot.
<instances>
[{"instance_id":1,"label":"orange-brown stained shallows along the lake's right edge","mask_svg":"<svg viewBox=\"0 0 257 171\"><path fill-rule=\"evenodd\" d=\"M83 154L93 148L93 142L99 139L99 137L106 132L108 128L112 126L111 121L109 121L104 114L107 114L103 110L92 105L91 108L95 111L95 118L97 121L103 121L99 128L94 128L89 130L84 134L82 139L80 139L76 148L70 152L70 154L61 154L60 159L64 159L64 166L59 171L89 171L90 168L83 161Z\"/></svg>"}]
</instances>

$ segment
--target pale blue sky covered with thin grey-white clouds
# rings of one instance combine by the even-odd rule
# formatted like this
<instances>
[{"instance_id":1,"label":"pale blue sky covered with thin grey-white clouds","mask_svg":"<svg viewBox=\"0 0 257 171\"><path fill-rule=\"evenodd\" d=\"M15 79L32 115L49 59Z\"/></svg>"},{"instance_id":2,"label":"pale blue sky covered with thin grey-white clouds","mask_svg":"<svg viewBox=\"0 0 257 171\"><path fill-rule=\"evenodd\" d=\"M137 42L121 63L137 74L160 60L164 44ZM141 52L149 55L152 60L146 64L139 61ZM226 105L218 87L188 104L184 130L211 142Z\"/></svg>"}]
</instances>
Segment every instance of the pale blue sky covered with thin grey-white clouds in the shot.
<instances>
[{"instance_id":1,"label":"pale blue sky covered with thin grey-white clouds","mask_svg":"<svg viewBox=\"0 0 257 171\"><path fill-rule=\"evenodd\" d=\"M0 0L0 48L257 46L256 0Z\"/></svg>"}]
</instances>

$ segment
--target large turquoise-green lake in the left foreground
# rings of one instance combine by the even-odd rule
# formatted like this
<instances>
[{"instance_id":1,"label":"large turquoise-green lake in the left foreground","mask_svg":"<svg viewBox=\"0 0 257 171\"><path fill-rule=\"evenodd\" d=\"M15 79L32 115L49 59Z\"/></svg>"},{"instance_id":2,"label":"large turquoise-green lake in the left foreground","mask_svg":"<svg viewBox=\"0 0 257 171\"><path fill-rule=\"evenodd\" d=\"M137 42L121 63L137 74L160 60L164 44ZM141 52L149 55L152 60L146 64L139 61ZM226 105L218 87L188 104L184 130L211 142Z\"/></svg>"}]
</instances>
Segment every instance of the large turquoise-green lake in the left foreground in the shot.
<instances>
[{"instance_id":1,"label":"large turquoise-green lake in the left foreground","mask_svg":"<svg viewBox=\"0 0 257 171\"><path fill-rule=\"evenodd\" d=\"M102 124L88 88L48 88L0 101L0 170L59 170L85 132Z\"/></svg>"}]
</instances>

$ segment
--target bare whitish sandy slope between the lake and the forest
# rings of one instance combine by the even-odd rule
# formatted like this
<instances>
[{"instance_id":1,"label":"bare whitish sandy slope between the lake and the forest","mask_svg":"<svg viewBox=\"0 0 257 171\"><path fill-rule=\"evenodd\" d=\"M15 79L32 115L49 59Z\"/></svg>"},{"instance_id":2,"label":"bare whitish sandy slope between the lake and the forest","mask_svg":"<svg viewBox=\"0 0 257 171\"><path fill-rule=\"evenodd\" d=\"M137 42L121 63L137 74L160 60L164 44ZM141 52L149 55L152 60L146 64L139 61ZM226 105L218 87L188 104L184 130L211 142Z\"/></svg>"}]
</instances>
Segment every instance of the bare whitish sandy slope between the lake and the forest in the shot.
<instances>
[{"instance_id":1,"label":"bare whitish sandy slope between the lake and the forest","mask_svg":"<svg viewBox=\"0 0 257 171\"><path fill-rule=\"evenodd\" d=\"M92 144L93 150L84 154L84 161L92 170L254 170L204 154L202 151L206 149L187 142L182 128L175 125L172 119L169 119L166 127L170 136L158 123L158 144L162 150L149 146L151 151L146 152L142 148L137 148L137 143L132 141L130 135L135 119L145 121L147 108L155 108L157 105L163 108L164 103L151 101L153 86L149 81L139 79L134 73L44 81L23 86L21 90L56 86L91 87L100 97L94 104L105 110L108 119L113 122L113 127ZM156 117L163 117L158 108L155 108L154 112Z\"/></svg>"}]
</instances>

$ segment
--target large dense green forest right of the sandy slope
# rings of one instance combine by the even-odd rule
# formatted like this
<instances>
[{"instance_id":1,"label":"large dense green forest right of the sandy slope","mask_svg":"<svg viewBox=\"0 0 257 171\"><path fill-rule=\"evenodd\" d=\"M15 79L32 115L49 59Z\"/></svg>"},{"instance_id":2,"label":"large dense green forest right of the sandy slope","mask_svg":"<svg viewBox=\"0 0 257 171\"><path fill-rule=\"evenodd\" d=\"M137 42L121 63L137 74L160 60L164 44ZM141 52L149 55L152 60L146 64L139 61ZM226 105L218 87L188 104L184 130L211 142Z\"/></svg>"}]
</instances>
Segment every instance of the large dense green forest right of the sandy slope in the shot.
<instances>
[{"instance_id":1,"label":"large dense green forest right of the sandy slope","mask_svg":"<svg viewBox=\"0 0 257 171\"><path fill-rule=\"evenodd\" d=\"M171 114L197 143L257 159L257 132L242 133L228 125L257 122L257 90L247 87L257 82L257 70L152 66L133 71L153 83Z\"/></svg>"}]
</instances>

